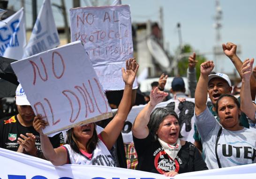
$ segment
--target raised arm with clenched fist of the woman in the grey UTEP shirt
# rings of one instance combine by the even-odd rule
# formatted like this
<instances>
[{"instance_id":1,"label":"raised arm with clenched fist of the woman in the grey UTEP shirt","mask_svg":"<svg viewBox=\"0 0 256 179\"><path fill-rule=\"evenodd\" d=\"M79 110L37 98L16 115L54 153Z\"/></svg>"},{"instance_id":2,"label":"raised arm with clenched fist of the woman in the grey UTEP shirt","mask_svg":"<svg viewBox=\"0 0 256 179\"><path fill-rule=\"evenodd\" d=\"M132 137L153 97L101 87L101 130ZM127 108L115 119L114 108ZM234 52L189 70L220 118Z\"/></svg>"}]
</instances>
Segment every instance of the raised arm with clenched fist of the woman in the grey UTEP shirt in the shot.
<instances>
[{"instance_id":1,"label":"raised arm with clenched fist of the woman in the grey UTEP shirt","mask_svg":"<svg viewBox=\"0 0 256 179\"><path fill-rule=\"evenodd\" d=\"M200 66L200 77L196 85L195 92L195 112L196 115L199 115L203 112L207 105L207 92L208 92L208 75L214 68L213 61L203 62Z\"/></svg>"}]
</instances>

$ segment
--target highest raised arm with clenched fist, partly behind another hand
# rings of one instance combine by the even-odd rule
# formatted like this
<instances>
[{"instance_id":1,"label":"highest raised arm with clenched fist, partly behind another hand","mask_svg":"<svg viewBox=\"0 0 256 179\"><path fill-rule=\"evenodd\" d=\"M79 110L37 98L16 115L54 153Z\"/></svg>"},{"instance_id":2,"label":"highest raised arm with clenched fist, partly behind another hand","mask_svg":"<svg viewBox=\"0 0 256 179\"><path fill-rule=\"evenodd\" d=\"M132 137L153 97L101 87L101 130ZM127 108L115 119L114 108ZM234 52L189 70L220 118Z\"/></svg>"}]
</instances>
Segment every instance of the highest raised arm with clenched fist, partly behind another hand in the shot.
<instances>
[{"instance_id":1,"label":"highest raised arm with clenched fist, partly behind another hand","mask_svg":"<svg viewBox=\"0 0 256 179\"><path fill-rule=\"evenodd\" d=\"M227 42L226 45L222 44L222 48L223 48L223 52L226 54L226 56L232 61L232 63L234 64L236 70L238 71L241 79L242 79L242 74L241 74L241 67L243 62L239 59L239 57L236 54L236 48L237 45L231 43L231 42ZM251 91L251 97L254 100L255 99L255 95L256 95L256 79L254 78L253 75L251 75L250 77L250 91Z\"/></svg>"}]
</instances>

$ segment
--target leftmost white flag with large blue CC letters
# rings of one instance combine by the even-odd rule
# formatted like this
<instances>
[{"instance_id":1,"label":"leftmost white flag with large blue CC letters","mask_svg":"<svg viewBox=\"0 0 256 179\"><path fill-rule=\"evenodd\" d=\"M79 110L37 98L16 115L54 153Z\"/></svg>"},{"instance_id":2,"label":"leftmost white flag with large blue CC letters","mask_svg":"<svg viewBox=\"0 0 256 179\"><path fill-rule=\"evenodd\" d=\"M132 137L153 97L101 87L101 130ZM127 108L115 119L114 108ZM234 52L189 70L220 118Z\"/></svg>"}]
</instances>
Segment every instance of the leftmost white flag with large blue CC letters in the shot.
<instances>
[{"instance_id":1,"label":"leftmost white flag with large blue CC letters","mask_svg":"<svg viewBox=\"0 0 256 179\"><path fill-rule=\"evenodd\" d=\"M26 46L23 8L0 21L0 56L20 60Z\"/></svg>"}]
</instances>

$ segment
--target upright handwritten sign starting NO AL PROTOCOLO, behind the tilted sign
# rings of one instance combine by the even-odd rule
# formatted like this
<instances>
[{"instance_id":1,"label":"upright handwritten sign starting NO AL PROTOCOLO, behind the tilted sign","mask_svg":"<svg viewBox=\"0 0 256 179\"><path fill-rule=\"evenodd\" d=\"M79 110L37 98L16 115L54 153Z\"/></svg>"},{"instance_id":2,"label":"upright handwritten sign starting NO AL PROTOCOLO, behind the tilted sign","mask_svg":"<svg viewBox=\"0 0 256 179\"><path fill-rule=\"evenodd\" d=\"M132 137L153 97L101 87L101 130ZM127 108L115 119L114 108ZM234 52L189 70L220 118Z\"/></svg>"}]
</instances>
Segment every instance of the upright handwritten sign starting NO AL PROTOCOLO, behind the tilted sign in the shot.
<instances>
[{"instance_id":1,"label":"upright handwritten sign starting NO AL PROTOCOLO, behind the tilted sign","mask_svg":"<svg viewBox=\"0 0 256 179\"><path fill-rule=\"evenodd\" d=\"M121 67L133 56L130 7L78 7L69 15L71 40L83 42L104 89L124 89Z\"/></svg>"}]
</instances>

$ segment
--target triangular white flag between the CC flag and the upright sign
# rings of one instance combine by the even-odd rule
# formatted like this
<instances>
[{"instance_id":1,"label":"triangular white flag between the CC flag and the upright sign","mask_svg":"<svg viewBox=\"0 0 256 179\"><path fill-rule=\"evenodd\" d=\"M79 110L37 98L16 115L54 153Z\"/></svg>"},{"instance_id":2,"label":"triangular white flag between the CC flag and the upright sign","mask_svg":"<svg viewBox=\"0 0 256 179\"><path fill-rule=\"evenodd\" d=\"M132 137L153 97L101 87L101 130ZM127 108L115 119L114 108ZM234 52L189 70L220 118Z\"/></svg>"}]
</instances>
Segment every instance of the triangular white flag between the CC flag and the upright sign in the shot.
<instances>
[{"instance_id":1,"label":"triangular white flag between the CC flag and the upright sign","mask_svg":"<svg viewBox=\"0 0 256 179\"><path fill-rule=\"evenodd\" d=\"M39 11L23 58L51 50L58 45L60 45L60 38L54 22L51 2L50 0L45 0Z\"/></svg>"}]
</instances>

